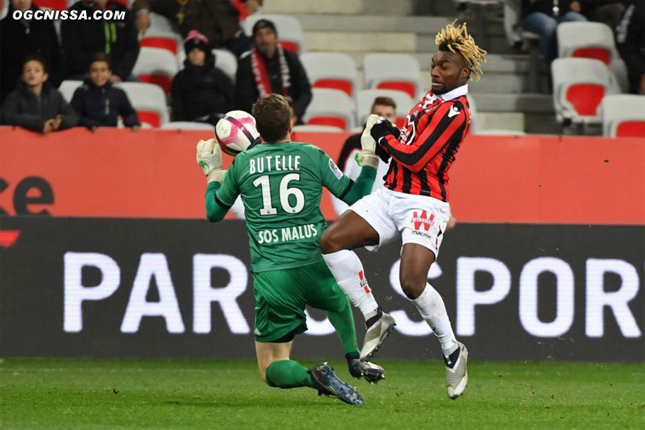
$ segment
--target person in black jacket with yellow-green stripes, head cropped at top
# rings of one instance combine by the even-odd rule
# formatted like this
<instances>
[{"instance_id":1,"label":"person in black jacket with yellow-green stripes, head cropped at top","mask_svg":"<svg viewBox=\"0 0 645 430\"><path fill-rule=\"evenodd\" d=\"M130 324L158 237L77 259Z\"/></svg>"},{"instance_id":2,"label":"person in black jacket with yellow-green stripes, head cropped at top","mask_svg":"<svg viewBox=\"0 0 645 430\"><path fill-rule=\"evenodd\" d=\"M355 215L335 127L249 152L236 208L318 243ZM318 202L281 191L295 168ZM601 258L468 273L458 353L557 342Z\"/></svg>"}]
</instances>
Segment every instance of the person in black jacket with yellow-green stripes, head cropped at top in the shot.
<instances>
[{"instance_id":1,"label":"person in black jacket with yellow-green stripes, head cropped at top","mask_svg":"<svg viewBox=\"0 0 645 430\"><path fill-rule=\"evenodd\" d=\"M114 0L81 0L69 10L85 10L88 16L92 16L95 10L124 11L126 19L66 19L62 22L62 47L67 57L68 79L83 80L92 55L103 52L110 59L114 71L110 78L113 83L122 80L136 81L132 69L139 56L139 40L128 8Z\"/></svg>"}]
</instances>

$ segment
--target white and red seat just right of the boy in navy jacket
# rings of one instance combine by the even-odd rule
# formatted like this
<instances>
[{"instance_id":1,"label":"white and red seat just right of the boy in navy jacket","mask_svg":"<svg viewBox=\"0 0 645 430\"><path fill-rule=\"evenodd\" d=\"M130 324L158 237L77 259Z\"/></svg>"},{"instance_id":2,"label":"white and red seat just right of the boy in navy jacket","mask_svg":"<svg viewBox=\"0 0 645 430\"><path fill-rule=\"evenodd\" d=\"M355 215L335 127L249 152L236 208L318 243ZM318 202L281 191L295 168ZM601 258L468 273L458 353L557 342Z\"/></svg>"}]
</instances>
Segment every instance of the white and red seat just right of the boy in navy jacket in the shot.
<instances>
[{"instance_id":1,"label":"white and red seat just right of the boy in navy jacket","mask_svg":"<svg viewBox=\"0 0 645 430\"><path fill-rule=\"evenodd\" d=\"M132 107L137 110L139 121L153 127L160 127L168 122L169 114L166 107L166 95L159 85L122 82L117 87L128 94Z\"/></svg>"}]
</instances>

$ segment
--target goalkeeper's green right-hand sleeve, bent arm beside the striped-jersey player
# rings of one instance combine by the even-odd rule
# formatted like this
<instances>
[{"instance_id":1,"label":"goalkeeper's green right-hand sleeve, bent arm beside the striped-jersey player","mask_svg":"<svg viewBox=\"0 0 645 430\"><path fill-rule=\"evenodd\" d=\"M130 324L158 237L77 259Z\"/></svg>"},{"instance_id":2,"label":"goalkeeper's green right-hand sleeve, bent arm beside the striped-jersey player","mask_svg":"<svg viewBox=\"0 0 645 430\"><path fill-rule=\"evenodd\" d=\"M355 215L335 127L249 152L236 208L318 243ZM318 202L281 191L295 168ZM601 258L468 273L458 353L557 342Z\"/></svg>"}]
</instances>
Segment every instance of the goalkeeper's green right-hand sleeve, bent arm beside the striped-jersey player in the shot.
<instances>
[{"instance_id":1,"label":"goalkeeper's green right-hand sleeve, bent arm beside the striped-jersey player","mask_svg":"<svg viewBox=\"0 0 645 430\"><path fill-rule=\"evenodd\" d=\"M376 178L376 169L370 166L363 166L359 177L354 182L338 169L334 160L329 155L320 151L320 170L322 184L325 185L334 196L343 200L347 205L353 205L363 196L372 191Z\"/></svg>"}]
</instances>

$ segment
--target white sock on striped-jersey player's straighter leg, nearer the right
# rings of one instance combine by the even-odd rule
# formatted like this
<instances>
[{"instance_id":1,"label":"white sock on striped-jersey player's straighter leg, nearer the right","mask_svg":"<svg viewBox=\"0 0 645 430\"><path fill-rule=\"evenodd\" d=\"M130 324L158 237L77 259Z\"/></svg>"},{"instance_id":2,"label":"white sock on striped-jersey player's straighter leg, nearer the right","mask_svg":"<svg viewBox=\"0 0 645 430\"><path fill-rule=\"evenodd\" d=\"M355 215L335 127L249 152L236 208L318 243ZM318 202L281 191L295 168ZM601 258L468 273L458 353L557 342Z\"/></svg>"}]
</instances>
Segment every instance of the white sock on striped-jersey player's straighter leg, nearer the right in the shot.
<instances>
[{"instance_id":1,"label":"white sock on striped-jersey player's straighter leg, nearer the right","mask_svg":"<svg viewBox=\"0 0 645 430\"><path fill-rule=\"evenodd\" d=\"M412 302L419 309L419 313L433 330L434 335L439 339L443 355L449 356L452 354L458 348L458 345L441 295L430 284L426 284L426 288L421 295L412 300Z\"/></svg>"}]
</instances>

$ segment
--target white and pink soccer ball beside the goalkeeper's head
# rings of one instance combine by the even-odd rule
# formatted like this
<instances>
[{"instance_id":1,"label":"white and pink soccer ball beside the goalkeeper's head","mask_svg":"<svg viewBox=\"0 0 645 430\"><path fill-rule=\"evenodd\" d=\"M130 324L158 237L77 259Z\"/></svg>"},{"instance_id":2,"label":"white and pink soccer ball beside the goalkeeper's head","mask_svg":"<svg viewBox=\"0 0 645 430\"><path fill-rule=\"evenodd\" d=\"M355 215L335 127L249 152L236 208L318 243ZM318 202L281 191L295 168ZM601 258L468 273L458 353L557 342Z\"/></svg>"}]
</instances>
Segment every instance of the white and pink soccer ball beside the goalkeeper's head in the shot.
<instances>
[{"instance_id":1,"label":"white and pink soccer ball beside the goalkeeper's head","mask_svg":"<svg viewBox=\"0 0 645 430\"><path fill-rule=\"evenodd\" d=\"M232 110L217 121L215 139L228 155L238 155L259 139L255 118L243 110Z\"/></svg>"}]
</instances>

